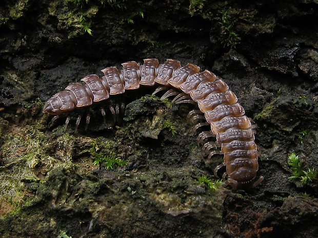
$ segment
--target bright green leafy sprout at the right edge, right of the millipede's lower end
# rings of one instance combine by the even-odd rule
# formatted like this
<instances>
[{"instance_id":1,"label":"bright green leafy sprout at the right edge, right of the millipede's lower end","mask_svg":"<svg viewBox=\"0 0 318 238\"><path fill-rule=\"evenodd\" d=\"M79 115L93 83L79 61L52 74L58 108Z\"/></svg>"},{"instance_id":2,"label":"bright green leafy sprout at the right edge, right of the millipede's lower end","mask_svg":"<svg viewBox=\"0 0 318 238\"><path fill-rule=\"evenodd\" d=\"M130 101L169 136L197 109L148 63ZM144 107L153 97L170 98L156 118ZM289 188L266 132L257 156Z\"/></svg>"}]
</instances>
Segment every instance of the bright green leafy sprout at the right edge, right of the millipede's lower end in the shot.
<instances>
[{"instance_id":1,"label":"bright green leafy sprout at the right edge, right of the millipede's lower end","mask_svg":"<svg viewBox=\"0 0 318 238\"><path fill-rule=\"evenodd\" d=\"M317 172L310 168L307 171L304 170L303 161L299 159L299 156L292 153L288 159L288 164L293 170L292 176L288 179L300 179L303 184L317 180Z\"/></svg>"}]
</instances>

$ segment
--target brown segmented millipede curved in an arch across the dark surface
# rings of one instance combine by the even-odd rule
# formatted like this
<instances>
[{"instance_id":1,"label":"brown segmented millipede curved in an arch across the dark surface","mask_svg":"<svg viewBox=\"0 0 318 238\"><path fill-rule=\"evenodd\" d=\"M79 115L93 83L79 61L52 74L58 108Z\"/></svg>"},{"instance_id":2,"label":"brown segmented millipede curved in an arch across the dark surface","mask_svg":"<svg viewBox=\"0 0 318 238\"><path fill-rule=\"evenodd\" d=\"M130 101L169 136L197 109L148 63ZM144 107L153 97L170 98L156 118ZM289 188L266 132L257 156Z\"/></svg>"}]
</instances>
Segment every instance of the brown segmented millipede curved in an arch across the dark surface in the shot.
<instances>
[{"instance_id":1,"label":"brown segmented millipede curved in an arch across the dark surface","mask_svg":"<svg viewBox=\"0 0 318 238\"><path fill-rule=\"evenodd\" d=\"M144 59L140 65L135 61L122 63L123 69L107 67L102 70L104 76L88 75L81 79L83 83L71 83L65 90L56 93L45 104L43 112L53 115L52 122L60 115L93 103L107 100L110 95L123 94L125 90L135 90L140 85L158 85L155 93L166 90L162 96L167 98L176 95L175 103L193 103L199 110L192 110L189 115L194 118L204 118L205 122L198 123L194 129L210 125L211 129L201 132L198 141L215 136L215 142L206 142L203 149L214 154L223 154L224 162L214 169L226 166L223 186L230 185L233 189L246 189L261 183L263 177L256 178L259 168L257 163L257 147L254 142L254 131L251 120L245 116L245 111L237 102L235 94L228 85L212 72L200 72L200 67L188 63L181 66L180 61L167 59L160 64L155 58ZM112 114L118 114L119 105L109 106ZM105 121L105 110L101 108ZM68 116L65 128L69 123ZM81 120L77 117L76 127ZM86 116L86 127L90 116ZM219 147L220 150L213 148ZM210 152L210 150L212 151Z\"/></svg>"}]
</instances>

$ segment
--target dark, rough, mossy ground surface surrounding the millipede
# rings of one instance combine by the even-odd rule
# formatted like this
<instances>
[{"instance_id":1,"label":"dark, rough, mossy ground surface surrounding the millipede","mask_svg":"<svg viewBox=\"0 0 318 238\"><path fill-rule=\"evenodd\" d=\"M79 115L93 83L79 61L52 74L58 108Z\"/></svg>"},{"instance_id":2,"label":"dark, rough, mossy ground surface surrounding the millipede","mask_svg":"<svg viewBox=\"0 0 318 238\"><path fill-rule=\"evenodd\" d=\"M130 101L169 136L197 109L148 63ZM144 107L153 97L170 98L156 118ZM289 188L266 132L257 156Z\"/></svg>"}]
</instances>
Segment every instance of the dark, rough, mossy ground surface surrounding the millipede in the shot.
<instances>
[{"instance_id":1,"label":"dark, rough, mossy ground surface surrounding the millipede","mask_svg":"<svg viewBox=\"0 0 318 238\"><path fill-rule=\"evenodd\" d=\"M4 0L0 236L317 237L317 19L316 0ZM193 133L195 105L155 88L75 111L66 130L65 117L50 125L42 113L69 83L144 58L223 78L255 124L261 184L208 186L223 160L197 143L209 127ZM122 103L104 121L101 106Z\"/></svg>"}]
</instances>

